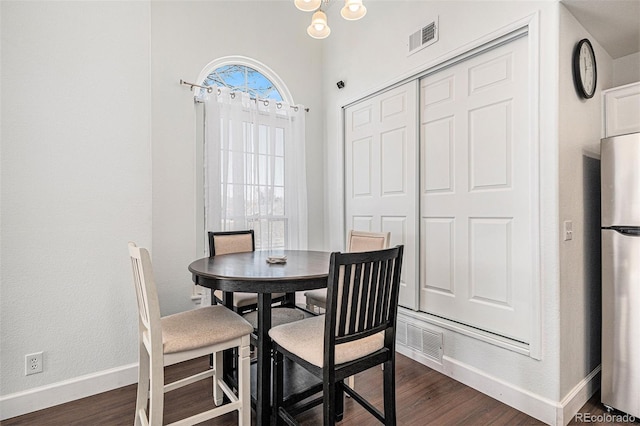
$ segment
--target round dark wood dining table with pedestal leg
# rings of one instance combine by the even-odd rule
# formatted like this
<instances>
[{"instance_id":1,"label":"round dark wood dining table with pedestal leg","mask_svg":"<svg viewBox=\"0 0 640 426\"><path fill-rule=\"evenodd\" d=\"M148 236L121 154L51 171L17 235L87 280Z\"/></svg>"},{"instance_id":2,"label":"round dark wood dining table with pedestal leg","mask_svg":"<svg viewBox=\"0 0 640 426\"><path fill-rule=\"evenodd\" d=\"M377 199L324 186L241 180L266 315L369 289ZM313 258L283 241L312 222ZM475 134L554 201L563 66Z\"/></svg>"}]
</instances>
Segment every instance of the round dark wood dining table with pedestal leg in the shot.
<instances>
[{"instance_id":1,"label":"round dark wood dining table with pedestal leg","mask_svg":"<svg viewBox=\"0 0 640 426\"><path fill-rule=\"evenodd\" d=\"M284 263L270 263L286 256ZM233 309L233 292L257 293L256 423L268 425L271 410L271 294L294 293L327 286L331 253L308 250L253 251L205 257L189 271L197 285L224 292Z\"/></svg>"}]
</instances>

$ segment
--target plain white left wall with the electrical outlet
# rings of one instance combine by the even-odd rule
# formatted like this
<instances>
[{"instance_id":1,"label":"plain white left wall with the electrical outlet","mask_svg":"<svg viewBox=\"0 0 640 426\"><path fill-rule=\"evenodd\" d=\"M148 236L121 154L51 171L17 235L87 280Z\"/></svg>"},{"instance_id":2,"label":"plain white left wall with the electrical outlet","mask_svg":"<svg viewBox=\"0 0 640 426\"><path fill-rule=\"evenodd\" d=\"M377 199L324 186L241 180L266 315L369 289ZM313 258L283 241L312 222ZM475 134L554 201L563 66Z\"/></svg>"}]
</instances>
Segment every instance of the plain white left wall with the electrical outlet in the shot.
<instances>
[{"instance_id":1,"label":"plain white left wall with the electrical outlet","mask_svg":"<svg viewBox=\"0 0 640 426\"><path fill-rule=\"evenodd\" d=\"M6 396L136 359L127 241L151 244L150 11L0 8ZM38 351L44 372L25 376L25 355Z\"/></svg>"}]
</instances>

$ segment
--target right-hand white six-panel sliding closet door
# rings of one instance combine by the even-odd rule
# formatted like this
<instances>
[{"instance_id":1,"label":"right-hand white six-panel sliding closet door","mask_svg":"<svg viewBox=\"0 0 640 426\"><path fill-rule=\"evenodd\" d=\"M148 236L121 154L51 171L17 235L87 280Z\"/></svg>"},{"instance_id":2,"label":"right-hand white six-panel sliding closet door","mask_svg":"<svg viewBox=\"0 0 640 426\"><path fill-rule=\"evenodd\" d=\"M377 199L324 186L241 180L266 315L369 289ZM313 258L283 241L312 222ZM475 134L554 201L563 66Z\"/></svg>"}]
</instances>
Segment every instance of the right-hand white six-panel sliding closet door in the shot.
<instances>
[{"instance_id":1,"label":"right-hand white six-panel sliding closet door","mask_svg":"<svg viewBox=\"0 0 640 426\"><path fill-rule=\"evenodd\" d=\"M527 37L421 80L420 310L531 336Z\"/></svg>"}]
</instances>

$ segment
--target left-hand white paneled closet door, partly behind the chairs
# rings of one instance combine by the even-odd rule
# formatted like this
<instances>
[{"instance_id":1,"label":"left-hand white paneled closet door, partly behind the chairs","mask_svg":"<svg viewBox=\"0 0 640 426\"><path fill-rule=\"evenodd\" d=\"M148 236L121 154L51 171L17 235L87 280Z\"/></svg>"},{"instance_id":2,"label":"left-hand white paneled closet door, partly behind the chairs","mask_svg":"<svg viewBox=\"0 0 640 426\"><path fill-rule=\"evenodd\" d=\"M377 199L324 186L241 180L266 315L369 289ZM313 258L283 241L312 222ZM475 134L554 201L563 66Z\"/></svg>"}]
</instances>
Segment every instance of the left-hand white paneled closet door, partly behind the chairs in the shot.
<instances>
[{"instance_id":1,"label":"left-hand white paneled closet door, partly behind the chairs","mask_svg":"<svg viewBox=\"0 0 640 426\"><path fill-rule=\"evenodd\" d=\"M345 227L404 244L400 305L418 308L417 92L413 81L345 109ZM346 237L345 237L346 238Z\"/></svg>"}]
</instances>

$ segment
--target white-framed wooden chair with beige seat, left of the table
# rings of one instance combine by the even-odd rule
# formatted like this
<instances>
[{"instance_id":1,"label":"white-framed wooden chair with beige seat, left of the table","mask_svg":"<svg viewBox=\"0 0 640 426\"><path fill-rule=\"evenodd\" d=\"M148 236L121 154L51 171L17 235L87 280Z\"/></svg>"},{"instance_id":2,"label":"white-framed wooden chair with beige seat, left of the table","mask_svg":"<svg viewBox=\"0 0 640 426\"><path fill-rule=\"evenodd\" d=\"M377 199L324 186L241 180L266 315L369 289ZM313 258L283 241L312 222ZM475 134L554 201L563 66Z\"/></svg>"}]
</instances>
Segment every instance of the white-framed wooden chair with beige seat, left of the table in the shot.
<instances>
[{"instance_id":1,"label":"white-framed wooden chair with beige seat, left of the table","mask_svg":"<svg viewBox=\"0 0 640 426\"><path fill-rule=\"evenodd\" d=\"M220 305L161 318L149 252L129 243L129 255L138 300L139 368L135 425L162 425L166 392L212 377L213 402L218 407L174 424L193 425L238 411L238 424L250 426L251 325L237 313ZM239 354L237 394L222 381L221 368L216 368L222 366L222 351L226 349L235 349L234 352ZM213 369L164 384L165 366L209 354L215 354ZM230 402L221 405L224 395Z\"/></svg>"}]
</instances>

